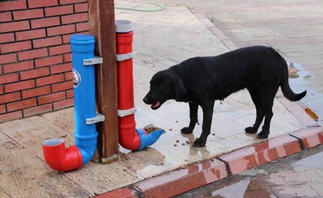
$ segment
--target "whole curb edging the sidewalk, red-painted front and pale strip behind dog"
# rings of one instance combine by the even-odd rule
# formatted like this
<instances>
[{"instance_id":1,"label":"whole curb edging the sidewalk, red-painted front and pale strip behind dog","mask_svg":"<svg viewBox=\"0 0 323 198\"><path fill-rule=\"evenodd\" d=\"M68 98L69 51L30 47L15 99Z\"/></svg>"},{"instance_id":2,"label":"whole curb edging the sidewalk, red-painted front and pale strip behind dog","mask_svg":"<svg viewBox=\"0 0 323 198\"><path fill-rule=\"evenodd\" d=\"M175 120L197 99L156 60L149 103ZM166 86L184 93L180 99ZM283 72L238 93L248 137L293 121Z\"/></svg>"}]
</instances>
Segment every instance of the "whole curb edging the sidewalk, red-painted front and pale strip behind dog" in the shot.
<instances>
[{"instance_id":1,"label":"whole curb edging the sidewalk, red-painted front and pale strip behind dog","mask_svg":"<svg viewBox=\"0 0 323 198\"><path fill-rule=\"evenodd\" d=\"M196 10L191 11L224 46L230 50L238 49L207 17ZM281 92L276 97L307 128L190 164L99 195L97 198L171 198L260 164L323 145L323 128L297 103L285 99Z\"/></svg>"}]
</instances>

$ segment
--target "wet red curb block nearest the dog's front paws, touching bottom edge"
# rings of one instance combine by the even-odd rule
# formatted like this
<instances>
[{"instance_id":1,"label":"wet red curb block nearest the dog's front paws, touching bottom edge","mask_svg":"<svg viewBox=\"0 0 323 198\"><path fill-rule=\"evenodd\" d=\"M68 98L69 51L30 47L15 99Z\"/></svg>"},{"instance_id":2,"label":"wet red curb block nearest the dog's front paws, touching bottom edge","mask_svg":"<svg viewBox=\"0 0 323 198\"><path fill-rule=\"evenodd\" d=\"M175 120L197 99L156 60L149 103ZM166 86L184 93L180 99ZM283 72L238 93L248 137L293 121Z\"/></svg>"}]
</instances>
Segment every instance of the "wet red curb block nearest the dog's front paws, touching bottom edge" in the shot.
<instances>
[{"instance_id":1,"label":"wet red curb block nearest the dog's front paws, touching bottom edge","mask_svg":"<svg viewBox=\"0 0 323 198\"><path fill-rule=\"evenodd\" d=\"M147 198L170 198L227 176L225 164L217 159L202 161L136 184ZM185 184L185 185L183 185Z\"/></svg>"}]
</instances>

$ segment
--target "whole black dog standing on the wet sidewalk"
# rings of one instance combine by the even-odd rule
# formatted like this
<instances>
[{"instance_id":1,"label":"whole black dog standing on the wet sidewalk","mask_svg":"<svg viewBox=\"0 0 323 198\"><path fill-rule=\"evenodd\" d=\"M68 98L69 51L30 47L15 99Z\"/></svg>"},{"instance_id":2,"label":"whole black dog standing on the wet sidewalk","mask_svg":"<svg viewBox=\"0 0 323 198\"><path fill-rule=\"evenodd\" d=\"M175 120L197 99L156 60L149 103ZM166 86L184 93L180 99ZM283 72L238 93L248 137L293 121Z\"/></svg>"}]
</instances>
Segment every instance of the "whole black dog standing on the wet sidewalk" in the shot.
<instances>
[{"instance_id":1,"label":"whole black dog standing on the wet sidewalk","mask_svg":"<svg viewBox=\"0 0 323 198\"><path fill-rule=\"evenodd\" d=\"M193 147L204 147L210 134L214 102L247 88L257 110L256 122L245 129L257 133L264 117L259 139L269 135L272 104L278 87L291 101L302 99L306 91L295 94L288 84L288 66L283 57L272 48L253 46L230 51L218 56L194 57L166 70L157 72L150 81L150 91L143 99L158 109L168 99L189 102L190 124L181 130L193 132L198 105L203 109L202 134Z\"/></svg>"}]
</instances>

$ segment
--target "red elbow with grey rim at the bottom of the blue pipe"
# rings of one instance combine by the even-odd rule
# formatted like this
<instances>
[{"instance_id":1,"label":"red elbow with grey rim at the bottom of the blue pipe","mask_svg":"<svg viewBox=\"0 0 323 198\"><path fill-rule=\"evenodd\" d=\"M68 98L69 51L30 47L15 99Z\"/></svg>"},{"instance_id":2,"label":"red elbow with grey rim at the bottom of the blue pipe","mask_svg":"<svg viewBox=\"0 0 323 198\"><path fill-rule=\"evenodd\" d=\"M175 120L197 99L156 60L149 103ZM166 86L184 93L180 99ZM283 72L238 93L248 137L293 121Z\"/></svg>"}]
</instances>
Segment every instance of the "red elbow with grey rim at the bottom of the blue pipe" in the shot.
<instances>
[{"instance_id":1,"label":"red elbow with grey rim at the bottom of the blue pipe","mask_svg":"<svg viewBox=\"0 0 323 198\"><path fill-rule=\"evenodd\" d=\"M65 148L62 139L49 139L43 143L46 163L56 171L68 171L82 167L82 155L76 146Z\"/></svg>"}]
</instances>

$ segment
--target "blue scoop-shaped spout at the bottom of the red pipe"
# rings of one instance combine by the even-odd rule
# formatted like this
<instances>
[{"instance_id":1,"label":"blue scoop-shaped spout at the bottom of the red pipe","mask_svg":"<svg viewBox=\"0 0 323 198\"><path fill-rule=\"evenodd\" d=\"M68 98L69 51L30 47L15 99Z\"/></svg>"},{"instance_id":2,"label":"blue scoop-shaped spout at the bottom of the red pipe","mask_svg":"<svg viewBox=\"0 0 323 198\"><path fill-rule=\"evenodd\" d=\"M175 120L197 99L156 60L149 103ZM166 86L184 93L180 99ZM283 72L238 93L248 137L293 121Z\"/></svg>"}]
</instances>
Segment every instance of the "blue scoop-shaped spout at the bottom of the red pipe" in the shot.
<instances>
[{"instance_id":1,"label":"blue scoop-shaped spout at the bottom of the red pipe","mask_svg":"<svg viewBox=\"0 0 323 198\"><path fill-rule=\"evenodd\" d=\"M146 135L143 129L136 129L136 133L139 135L140 138L140 147L137 150L142 150L157 142L157 140L161 137L162 132L164 132L164 130L159 129Z\"/></svg>"}]
</instances>

